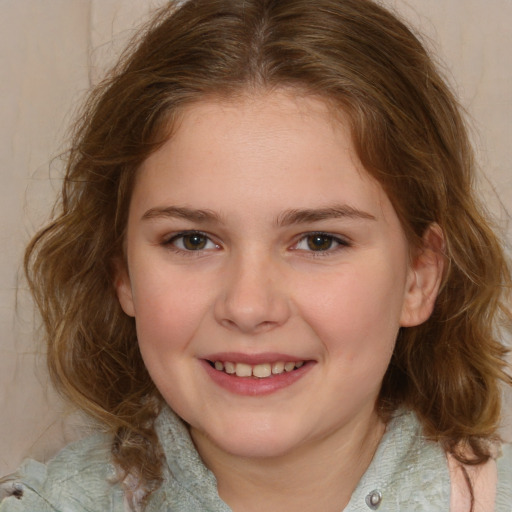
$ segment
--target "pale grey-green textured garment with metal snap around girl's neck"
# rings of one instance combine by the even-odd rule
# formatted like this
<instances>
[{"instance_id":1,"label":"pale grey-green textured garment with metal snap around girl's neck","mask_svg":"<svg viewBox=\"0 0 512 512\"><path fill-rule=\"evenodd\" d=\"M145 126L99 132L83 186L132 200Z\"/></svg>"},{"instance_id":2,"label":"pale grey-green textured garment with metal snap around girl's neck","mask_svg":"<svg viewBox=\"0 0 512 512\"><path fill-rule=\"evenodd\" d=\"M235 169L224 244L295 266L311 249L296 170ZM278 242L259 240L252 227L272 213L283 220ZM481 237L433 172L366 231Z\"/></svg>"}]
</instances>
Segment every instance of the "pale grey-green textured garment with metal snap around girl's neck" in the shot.
<instances>
[{"instance_id":1,"label":"pale grey-green textured garment with metal snap around girl's neck","mask_svg":"<svg viewBox=\"0 0 512 512\"><path fill-rule=\"evenodd\" d=\"M164 483L147 512L229 512L215 477L204 466L187 428L170 410L157 431L167 459ZM512 511L512 450L498 459L496 512ZM34 461L2 484L0 512L126 512L124 493L111 483L110 438L95 435L65 448L47 466ZM397 415L343 512L428 512L450 508L443 450L425 440L415 416ZM341 512L341 510L340 510Z\"/></svg>"}]
</instances>

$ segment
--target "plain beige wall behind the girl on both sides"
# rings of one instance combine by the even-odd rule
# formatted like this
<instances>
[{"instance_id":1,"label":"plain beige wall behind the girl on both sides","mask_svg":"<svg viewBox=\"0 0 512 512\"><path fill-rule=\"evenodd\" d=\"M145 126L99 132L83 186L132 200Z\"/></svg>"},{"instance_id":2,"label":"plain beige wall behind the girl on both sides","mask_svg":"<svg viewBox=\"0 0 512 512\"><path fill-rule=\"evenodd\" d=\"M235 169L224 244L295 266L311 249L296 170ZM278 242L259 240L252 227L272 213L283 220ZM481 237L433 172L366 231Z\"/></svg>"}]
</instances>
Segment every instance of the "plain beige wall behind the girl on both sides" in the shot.
<instances>
[{"instance_id":1,"label":"plain beige wall behind the girl on both sides","mask_svg":"<svg viewBox=\"0 0 512 512\"><path fill-rule=\"evenodd\" d=\"M0 0L0 475L81 435L47 386L33 312L18 279L47 217L73 109L162 0ZM483 188L512 207L512 1L386 0L427 34L468 109ZM52 179L50 179L52 178ZM510 233L510 231L509 231ZM509 236L510 239L510 236ZM512 428L512 427L511 427Z\"/></svg>"}]
</instances>

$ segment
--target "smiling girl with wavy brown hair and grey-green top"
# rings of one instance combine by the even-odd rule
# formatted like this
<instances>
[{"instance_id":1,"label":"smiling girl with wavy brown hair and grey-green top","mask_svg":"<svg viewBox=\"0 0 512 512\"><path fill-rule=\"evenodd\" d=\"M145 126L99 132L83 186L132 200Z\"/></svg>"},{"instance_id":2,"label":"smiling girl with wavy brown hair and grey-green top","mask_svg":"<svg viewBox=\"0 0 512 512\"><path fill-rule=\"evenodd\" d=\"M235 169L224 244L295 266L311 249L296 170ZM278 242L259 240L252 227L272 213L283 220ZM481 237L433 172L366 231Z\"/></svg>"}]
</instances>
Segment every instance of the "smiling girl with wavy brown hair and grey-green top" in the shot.
<instances>
[{"instance_id":1,"label":"smiling girl with wavy brown hair and grey-green top","mask_svg":"<svg viewBox=\"0 0 512 512\"><path fill-rule=\"evenodd\" d=\"M0 510L510 510L510 276L472 179L376 3L162 9L26 254L54 381L106 433Z\"/></svg>"}]
</instances>

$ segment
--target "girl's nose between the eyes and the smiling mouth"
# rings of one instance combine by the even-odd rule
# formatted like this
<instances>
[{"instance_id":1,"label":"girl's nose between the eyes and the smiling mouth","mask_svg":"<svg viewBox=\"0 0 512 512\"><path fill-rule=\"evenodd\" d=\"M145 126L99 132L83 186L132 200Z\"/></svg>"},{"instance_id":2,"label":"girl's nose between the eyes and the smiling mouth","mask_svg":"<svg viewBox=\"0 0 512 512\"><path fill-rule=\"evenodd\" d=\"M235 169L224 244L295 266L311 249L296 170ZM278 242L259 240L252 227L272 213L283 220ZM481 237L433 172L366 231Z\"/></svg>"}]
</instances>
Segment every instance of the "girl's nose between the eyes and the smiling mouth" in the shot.
<instances>
[{"instance_id":1,"label":"girl's nose between the eyes and the smiling mouth","mask_svg":"<svg viewBox=\"0 0 512 512\"><path fill-rule=\"evenodd\" d=\"M269 331L290 316L283 276L270 257L231 261L215 303L215 318L245 334Z\"/></svg>"}]
</instances>

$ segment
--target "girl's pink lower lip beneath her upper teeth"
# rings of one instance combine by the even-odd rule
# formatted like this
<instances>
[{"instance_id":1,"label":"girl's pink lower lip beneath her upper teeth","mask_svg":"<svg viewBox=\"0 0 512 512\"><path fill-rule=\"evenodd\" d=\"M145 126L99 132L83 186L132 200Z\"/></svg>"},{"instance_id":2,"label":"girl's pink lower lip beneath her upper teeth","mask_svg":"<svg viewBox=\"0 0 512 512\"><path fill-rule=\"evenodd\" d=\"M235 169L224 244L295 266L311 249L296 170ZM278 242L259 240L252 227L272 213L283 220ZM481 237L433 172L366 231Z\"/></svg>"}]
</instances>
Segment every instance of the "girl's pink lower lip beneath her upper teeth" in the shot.
<instances>
[{"instance_id":1,"label":"girl's pink lower lip beneath her upper teeth","mask_svg":"<svg viewBox=\"0 0 512 512\"><path fill-rule=\"evenodd\" d=\"M270 395L281 389L291 386L300 380L307 372L313 367L313 361L307 361L303 366L291 372L283 372L271 377L258 378L258 377L237 377L236 375L229 375L225 372L216 370L208 361L202 360L206 373L210 378L220 386L227 389L231 393L245 396L262 396Z\"/></svg>"}]
</instances>

